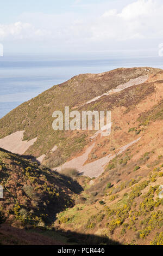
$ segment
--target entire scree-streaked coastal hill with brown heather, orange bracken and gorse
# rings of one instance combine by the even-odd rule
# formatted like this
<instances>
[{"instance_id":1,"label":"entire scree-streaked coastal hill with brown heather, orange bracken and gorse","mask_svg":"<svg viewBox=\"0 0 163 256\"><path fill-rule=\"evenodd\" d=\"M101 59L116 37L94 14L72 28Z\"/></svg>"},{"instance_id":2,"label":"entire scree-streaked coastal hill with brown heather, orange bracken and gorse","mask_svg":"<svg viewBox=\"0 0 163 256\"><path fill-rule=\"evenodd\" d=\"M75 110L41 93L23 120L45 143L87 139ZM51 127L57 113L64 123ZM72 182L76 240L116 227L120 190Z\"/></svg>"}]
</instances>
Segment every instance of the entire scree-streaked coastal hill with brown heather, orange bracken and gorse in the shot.
<instances>
[{"instance_id":1,"label":"entire scree-streaked coastal hill with brown heather, orange bracken and gorse","mask_svg":"<svg viewBox=\"0 0 163 256\"><path fill-rule=\"evenodd\" d=\"M3 158L11 158L7 164L11 165L9 170L14 169L10 189L16 200L19 193L25 195L18 206L22 204L28 212L33 210L37 193L50 202L45 211L42 203L46 200L36 200L39 213L30 221L34 223L36 217L46 213L47 220L39 219L45 223L45 229L62 230L70 235L70 241L75 232L78 244L162 245L162 97L161 69L120 68L75 76L3 117L0 146L12 153L1 150L2 156L5 154L2 162ZM111 110L111 134L54 131L52 114L55 110L64 112L65 106L80 112ZM14 164L12 158L16 159ZM9 170L4 168L2 163L1 184L8 191L3 182L10 181ZM42 194L43 178L47 179L50 192L57 184L54 198L49 198L46 189ZM28 186L36 193L32 194L32 201L26 194ZM7 195L3 207L7 211L11 207L8 218L12 218L15 204L8 192ZM17 211L20 216L20 208Z\"/></svg>"}]
</instances>

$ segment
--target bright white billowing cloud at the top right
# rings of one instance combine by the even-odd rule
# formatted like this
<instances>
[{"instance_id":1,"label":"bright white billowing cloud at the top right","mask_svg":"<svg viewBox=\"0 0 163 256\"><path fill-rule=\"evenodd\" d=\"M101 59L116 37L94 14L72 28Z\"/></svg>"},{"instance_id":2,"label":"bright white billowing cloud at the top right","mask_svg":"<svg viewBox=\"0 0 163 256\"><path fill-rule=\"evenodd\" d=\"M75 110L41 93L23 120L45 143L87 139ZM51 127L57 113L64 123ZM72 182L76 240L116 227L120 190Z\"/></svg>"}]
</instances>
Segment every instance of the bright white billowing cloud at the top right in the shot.
<instances>
[{"instance_id":1,"label":"bright white billowing cloud at the top right","mask_svg":"<svg viewBox=\"0 0 163 256\"><path fill-rule=\"evenodd\" d=\"M162 12L163 3L159 0L137 0L120 12L110 9L92 25L93 37L118 41L161 38Z\"/></svg>"}]
</instances>

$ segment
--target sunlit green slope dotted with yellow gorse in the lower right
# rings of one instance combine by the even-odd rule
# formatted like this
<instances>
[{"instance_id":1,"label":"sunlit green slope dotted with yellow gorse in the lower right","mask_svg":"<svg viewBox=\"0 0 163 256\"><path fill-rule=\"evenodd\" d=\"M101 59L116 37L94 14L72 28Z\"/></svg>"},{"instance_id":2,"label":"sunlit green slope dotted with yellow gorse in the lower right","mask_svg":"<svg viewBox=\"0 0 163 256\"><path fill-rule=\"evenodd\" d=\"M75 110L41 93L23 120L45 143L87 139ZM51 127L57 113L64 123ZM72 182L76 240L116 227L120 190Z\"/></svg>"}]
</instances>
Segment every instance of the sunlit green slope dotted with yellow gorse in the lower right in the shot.
<instances>
[{"instance_id":1,"label":"sunlit green slope dotted with yellow gorse in the lower right","mask_svg":"<svg viewBox=\"0 0 163 256\"><path fill-rule=\"evenodd\" d=\"M158 197L163 157L146 152L132 162L132 151L134 147L112 160L103 175L88 183L76 205L58 214L55 227L127 245L163 245L163 199Z\"/></svg>"}]
</instances>

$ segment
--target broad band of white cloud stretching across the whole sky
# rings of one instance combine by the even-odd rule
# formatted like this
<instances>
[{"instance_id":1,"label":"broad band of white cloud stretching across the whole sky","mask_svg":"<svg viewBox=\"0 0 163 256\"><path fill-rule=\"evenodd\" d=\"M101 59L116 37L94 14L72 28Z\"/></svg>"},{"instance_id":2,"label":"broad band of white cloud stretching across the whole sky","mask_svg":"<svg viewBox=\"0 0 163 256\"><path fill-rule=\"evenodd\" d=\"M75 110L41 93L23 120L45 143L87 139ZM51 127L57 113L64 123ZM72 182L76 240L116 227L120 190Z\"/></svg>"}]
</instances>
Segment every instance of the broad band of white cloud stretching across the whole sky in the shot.
<instances>
[{"instance_id":1,"label":"broad band of white cloud stretching across the whole sky","mask_svg":"<svg viewBox=\"0 0 163 256\"><path fill-rule=\"evenodd\" d=\"M158 39L159 43L163 40L162 13L161 0L135 0L121 10L106 9L98 15L24 13L19 22L0 24L0 41L42 40L56 51L63 48L73 51L74 47L79 51L114 49L117 42L123 41L129 47L134 40L149 45L152 40Z\"/></svg>"}]
</instances>

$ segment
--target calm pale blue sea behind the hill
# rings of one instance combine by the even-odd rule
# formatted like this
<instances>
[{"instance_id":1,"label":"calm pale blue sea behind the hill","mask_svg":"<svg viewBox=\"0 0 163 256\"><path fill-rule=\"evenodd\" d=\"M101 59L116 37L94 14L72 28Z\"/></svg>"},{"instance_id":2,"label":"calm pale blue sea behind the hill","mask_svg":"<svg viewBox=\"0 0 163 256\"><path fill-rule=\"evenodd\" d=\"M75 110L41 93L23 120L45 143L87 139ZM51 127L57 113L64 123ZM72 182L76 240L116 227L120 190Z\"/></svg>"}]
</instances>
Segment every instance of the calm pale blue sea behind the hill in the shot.
<instances>
[{"instance_id":1,"label":"calm pale blue sea behind the hill","mask_svg":"<svg viewBox=\"0 0 163 256\"><path fill-rule=\"evenodd\" d=\"M0 57L0 118L16 106L78 74L102 73L116 68L163 69L163 57L6 55Z\"/></svg>"}]
</instances>

